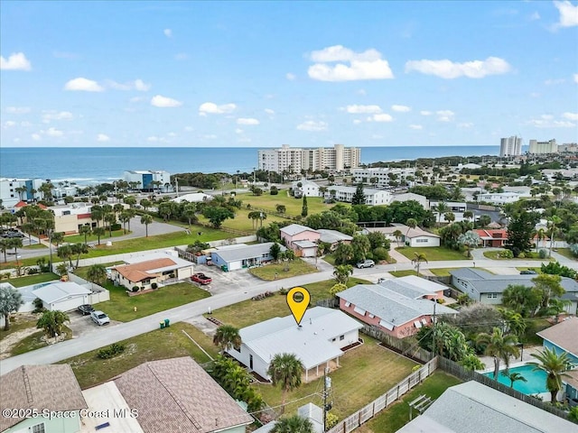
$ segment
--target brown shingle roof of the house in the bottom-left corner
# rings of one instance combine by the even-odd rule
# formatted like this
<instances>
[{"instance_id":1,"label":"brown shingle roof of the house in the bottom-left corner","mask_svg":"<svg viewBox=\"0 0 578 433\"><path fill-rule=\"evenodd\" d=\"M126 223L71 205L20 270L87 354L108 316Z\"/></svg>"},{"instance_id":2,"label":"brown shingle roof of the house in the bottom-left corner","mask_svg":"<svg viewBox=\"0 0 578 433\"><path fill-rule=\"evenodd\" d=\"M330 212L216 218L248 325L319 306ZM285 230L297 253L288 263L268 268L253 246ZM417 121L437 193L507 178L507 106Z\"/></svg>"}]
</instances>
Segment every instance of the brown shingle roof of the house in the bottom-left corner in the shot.
<instances>
[{"instance_id":1,"label":"brown shingle roof of the house in the bottom-left corner","mask_svg":"<svg viewBox=\"0 0 578 433\"><path fill-rule=\"evenodd\" d=\"M68 364L23 365L0 376L0 408L81 410L87 409L72 369ZM0 418L0 431L23 418Z\"/></svg>"}]
</instances>

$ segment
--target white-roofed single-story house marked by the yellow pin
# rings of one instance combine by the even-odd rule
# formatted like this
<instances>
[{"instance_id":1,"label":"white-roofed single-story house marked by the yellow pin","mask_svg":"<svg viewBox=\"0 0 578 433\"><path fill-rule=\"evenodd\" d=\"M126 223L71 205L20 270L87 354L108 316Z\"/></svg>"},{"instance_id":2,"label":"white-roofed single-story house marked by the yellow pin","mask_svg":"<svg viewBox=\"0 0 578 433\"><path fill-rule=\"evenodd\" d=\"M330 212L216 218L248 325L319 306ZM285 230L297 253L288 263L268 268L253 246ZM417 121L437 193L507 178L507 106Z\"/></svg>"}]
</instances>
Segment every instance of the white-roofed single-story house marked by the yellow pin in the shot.
<instances>
[{"instance_id":1,"label":"white-roofed single-story house marked by the yellow pin","mask_svg":"<svg viewBox=\"0 0 578 433\"><path fill-rule=\"evenodd\" d=\"M240 347L227 353L266 379L269 362L275 355L294 354L303 363L305 382L309 382L310 373L317 377L325 367L339 367L341 349L359 342L361 327L357 320L337 309L314 307L305 311L300 326L290 315L240 329Z\"/></svg>"}]
</instances>

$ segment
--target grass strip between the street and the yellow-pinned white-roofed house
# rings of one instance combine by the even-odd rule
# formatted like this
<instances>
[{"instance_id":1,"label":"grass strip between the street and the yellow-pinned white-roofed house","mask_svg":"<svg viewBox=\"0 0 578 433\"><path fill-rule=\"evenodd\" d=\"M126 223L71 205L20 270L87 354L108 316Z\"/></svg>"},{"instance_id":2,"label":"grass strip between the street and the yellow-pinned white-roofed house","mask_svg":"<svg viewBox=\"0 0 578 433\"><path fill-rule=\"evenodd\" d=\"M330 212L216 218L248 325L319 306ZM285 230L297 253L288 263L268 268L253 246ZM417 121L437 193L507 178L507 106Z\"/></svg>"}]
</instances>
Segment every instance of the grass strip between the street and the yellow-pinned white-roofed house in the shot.
<instances>
[{"instance_id":1,"label":"grass strip between the street and the yellow-pinned white-roofed house","mask_svg":"<svg viewBox=\"0 0 578 433\"><path fill-rule=\"evenodd\" d=\"M333 284L335 284L335 281L327 280L303 286L305 289L309 290L311 295L310 305L314 307L315 302L318 300L331 298L329 290ZM368 284L368 281L359 278L350 278L348 286L352 287L356 284ZM275 296L270 298L262 300L244 300L238 304L217 309L212 312L211 316L218 318L221 322L227 325L233 325L240 328L254 325L257 322L262 322L269 318L284 317L289 313L290 311L289 307L287 307L285 296L275 293Z\"/></svg>"}]
</instances>

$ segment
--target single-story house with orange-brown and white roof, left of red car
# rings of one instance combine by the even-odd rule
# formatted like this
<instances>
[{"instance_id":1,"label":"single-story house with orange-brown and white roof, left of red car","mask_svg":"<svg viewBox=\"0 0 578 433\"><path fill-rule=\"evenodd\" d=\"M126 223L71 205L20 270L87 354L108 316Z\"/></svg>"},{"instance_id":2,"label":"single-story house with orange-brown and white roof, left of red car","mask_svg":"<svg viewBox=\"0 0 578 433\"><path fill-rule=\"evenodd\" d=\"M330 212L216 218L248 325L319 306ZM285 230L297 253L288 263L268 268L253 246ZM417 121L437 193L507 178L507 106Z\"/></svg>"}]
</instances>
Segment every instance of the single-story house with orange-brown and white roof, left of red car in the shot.
<instances>
[{"instance_id":1,"label":"single-story house with orange-brown and white roof, left of red car","mask_svg":"<svg viewBox=\"0 0 578 433\"><path fill-rule=\"evenodd\" d=\"M131 257L121 264L110 268L110 279L117 284L133 290L151 289L152 284L167 280L188 280L192 275L192 263L182 260L171 253L152 253L140 257Z\"/></svg>"}]
</instances>

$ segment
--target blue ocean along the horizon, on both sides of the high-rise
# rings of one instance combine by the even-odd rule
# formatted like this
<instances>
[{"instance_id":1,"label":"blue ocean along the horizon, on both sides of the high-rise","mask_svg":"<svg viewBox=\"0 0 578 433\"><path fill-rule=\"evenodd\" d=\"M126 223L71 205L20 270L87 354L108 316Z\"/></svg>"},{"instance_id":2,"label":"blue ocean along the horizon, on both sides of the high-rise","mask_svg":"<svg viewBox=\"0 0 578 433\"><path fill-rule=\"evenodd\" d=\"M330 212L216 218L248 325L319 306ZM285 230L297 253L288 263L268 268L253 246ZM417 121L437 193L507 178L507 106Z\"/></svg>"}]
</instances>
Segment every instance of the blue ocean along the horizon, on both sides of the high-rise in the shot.
<instances>
[{"instance_id":1,"label":"blue ocean along the horizon, on both sides of the high-rise","mask_svg":"<svg viewBox=\"0 0 578 433\"><path fill-rule=\"evenodd\" d=\"M125 170L166 170L170 173L250 172L256 148L176 147L0 147L0 177L40 178L79 184L122 179ZM498 155L499 146L362 147L363 163L415 160L443 156Z\"/></svg>"}]
</instances>

